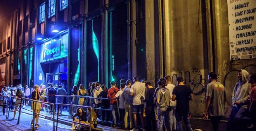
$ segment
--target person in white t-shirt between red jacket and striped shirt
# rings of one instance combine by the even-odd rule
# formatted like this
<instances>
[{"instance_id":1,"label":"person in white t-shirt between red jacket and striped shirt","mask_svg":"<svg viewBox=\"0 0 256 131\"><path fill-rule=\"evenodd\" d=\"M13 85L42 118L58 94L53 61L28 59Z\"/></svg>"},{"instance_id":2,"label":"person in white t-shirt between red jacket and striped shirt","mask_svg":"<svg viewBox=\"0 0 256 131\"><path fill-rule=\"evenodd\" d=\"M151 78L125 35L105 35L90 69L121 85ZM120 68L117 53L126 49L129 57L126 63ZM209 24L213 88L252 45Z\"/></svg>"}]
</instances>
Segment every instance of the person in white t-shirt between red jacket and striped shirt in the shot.
<instances>
[{"instance_id":1,"label":"person in white t-shirt between red jacket and striped shirt","mask_svg":"<svg viewBox=\"0 0 256 131\"><path fill-rule=\"evenodd\" d=\"M123 95L123 90L125 89L125 83L120 84L121 90L119 90L116 93L115 98L119 97L119 113L120 113L120 124L121 124L121 129L122 129L122 124L124 124L124 118L125 118L125 98Z\"/></svg>"}]
</instances>

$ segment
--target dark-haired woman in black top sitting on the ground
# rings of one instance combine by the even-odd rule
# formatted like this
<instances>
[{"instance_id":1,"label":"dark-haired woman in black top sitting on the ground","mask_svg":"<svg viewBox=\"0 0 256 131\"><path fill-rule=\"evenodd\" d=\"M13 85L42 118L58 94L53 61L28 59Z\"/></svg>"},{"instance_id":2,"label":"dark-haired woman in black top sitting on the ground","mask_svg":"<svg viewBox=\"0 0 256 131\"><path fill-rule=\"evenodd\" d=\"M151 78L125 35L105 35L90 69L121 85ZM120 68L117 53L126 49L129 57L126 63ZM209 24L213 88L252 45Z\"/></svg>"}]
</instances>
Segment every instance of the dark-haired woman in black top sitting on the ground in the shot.
<instances>
[{"instance_id":1,"label":"dark-haired woman in black top sitting on the ground","mask_svg":"<svg viewBox=\"0 0 256 131\"><path fill-rule=\"evenodd\" d=\"M78 116L78 119L76 118L76 116ZM87 118L86 118L86 113L85 111L79 107L76 110L76 114L72 117L74 122L78 122L78 123L86 123ZM76 127L74 126L74 123L72 123L72 128L70 128L71 130L75 130Z\"/></svg>"}]
</instances>

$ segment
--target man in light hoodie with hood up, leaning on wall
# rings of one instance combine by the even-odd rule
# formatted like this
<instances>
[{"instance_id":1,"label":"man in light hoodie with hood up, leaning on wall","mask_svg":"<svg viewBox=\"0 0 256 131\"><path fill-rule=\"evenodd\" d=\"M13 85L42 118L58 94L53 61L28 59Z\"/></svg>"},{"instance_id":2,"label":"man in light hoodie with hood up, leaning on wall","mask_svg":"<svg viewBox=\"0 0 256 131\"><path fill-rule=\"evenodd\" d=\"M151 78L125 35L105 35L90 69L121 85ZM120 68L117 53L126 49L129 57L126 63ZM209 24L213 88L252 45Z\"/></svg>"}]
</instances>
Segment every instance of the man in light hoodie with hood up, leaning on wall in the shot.
<instances>
[{"instance_id":1,"label":"man in light hoodie with hood up, leaning on wall","mask_svg":"<svg viewBox=\"0 0 256 131\"><path fill-rule=\"evenodd\" d=\"M248 83L249 73L246 70L238 71L239 82L235 84L232 94L232 111L230 114L231 131L241 131L245 128L248 121L241 121L248 117L248 104L250 100L250 87ZM242 123L241 123L242 122Z\"/></svg>"}]
</instances>

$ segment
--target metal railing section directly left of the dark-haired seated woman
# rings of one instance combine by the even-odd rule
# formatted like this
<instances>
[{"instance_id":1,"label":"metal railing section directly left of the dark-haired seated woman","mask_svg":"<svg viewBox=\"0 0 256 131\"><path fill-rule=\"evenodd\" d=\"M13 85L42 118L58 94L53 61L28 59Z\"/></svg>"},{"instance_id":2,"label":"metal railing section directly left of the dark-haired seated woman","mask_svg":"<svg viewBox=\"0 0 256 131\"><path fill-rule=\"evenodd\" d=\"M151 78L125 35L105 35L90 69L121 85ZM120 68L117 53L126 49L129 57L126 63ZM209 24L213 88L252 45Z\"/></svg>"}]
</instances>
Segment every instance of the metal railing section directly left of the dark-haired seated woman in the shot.
<instances>
[{"instance_id":1,"label":"metal railing section directly left of the dark-haired seated woman","mask_svg":"<svg viewBox=\"0 0 256 131\"><path fill-rule=\"evenodd\" d=\"M57 106L57 112L59 112L59 106L72 106L72 107L83 107L83 108L90 108L91 111L92 111L92 107L90 106L79 106L79 105L69 105L69 104L58 104ZM56 120L56 131L58 130L58 121L59 121L59 113L57 114L57 120ZM96 118L97 119L97 118ZM69 121L67 119L61 119L61 120L64 120L64 121ZM84 124L84 123L78 123L78 122L75 122L75 121L69 121L69 122L72 122L72 123L77 123L77 124L82 124L82 125L86 125L86 126L90 126L90 131L92 131L92 126L91 125L88 125L88 124ZM90 124L92 123L92 115L90 115Z\"/></svg>"}]
</instances>

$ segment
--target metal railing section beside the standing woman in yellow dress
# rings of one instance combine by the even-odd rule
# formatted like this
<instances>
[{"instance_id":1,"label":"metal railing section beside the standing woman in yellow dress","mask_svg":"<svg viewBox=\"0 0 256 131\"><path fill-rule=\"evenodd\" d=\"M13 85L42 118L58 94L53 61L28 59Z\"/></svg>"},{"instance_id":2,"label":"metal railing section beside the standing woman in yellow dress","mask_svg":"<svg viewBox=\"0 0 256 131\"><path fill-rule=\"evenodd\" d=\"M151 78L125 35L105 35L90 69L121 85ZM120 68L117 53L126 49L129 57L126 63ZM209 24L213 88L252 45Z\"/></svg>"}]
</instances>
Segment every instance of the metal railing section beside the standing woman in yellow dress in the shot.
<instances>
[{"instance_id":1,"label":"metal railing section beside the standing woman in yellow dress","mask_svg":"<svg viewBox=\"0 0 256 131\"><path fill-rule=\"evenodd\" d=\"M33 131L35 131L35 114L38 114L38 113L36 113L36 103L38 102L38 103L44 103L44 104L50 104L50 105L52 105L53 106L53 117L50 117L50 118L52 118L53 119L53 131L55 131L55 122L54 122L54 116L55 116L55 105L54 105L54 103L50 103L50 102L43 102L43 101L36 101L36 100L33 100L33 99L28 99L28 98L25 98L25 97L22 97L22 99L26 99L26 100L29 100L29 101L32 101L32 102L35 102L35 103L33 103ZM31 105L32 106L32 105ZM21 109L24 109L23 107L20 107ZM20 114L21 114L21 109L19 110L19 118L20 118ZM26 109L27 110L27 109ZM30 111L30 110L27 110L27 111ZM32 111L31 111L32 112ZM49 116L46 116L46 115L43 115L43 114L38 114L38 115L41 115L41 116L45 116L45 117L49 117ZM18 121L19 121L19 118L18 118ZM19 123L18 123L19 124Z\"/></svg>"}]
</instances>

